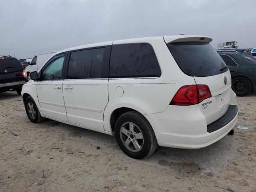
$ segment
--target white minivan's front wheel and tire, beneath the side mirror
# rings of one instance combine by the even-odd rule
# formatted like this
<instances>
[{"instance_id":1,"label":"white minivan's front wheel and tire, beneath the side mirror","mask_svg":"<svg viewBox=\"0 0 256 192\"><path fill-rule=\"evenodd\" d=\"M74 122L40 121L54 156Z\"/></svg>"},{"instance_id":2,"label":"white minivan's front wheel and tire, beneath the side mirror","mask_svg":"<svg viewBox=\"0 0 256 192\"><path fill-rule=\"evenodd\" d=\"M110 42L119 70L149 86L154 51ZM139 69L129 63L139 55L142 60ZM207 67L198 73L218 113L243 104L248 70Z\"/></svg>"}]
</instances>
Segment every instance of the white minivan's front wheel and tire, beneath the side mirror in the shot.
<instances>
[{"instance_id":1,"label":"white minivan's front wheel and tire, beneath the side mirror","mask_svg":"<svg viewBox=\"0 0 256 192\"><path fill-rule=\"evenodd\" d=\"M31 96L28 96L25 100L25 110L29 120L33 123L40 123L44 121L44 118L41 116L36 103L34 102Z\"/></svg>"}]
</instances>

